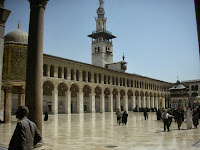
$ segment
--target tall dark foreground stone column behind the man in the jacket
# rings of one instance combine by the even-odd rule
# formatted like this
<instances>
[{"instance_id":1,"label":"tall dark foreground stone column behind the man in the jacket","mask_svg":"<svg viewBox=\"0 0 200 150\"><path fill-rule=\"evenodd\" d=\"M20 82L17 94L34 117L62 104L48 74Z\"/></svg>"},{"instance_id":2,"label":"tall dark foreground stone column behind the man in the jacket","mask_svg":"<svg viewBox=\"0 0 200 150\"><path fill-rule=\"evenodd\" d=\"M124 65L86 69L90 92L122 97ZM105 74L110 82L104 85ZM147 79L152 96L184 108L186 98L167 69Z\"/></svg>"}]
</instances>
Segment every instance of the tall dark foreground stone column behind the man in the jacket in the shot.
<instances>
[{"instance_id":1,"label":"tall dark foreground stone column behind the man in the jacket","mask_svg":"<svg viewBox=\"0 0 200 150\"><path fill-rule=\"evenodd\" d=\"M47 0L29 0L30 22L26 67L26 105L28 118L42 133L42 79L44 12Z\"/></svg>"}]
</instances>

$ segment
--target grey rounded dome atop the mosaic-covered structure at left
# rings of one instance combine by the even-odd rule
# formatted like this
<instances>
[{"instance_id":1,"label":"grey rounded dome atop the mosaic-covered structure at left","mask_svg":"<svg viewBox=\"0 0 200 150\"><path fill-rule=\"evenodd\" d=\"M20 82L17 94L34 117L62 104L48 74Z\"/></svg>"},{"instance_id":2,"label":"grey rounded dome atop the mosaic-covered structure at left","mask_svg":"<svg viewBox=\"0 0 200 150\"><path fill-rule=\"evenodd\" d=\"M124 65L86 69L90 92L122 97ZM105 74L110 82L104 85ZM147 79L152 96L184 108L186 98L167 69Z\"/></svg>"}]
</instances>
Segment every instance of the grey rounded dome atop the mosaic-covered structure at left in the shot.
<instances>
[{"instance_id":1,"label":"grey rounded dome atop the mosaic-covered structure at left","mask_svg":"<svg viewBox=\"0 0 200 150\"><path fill-rule=\"evenodd\" d=\"M28 34L20 29L11 31L4 36L4 42L28 44Z\"/></svg>"}]
</instances>

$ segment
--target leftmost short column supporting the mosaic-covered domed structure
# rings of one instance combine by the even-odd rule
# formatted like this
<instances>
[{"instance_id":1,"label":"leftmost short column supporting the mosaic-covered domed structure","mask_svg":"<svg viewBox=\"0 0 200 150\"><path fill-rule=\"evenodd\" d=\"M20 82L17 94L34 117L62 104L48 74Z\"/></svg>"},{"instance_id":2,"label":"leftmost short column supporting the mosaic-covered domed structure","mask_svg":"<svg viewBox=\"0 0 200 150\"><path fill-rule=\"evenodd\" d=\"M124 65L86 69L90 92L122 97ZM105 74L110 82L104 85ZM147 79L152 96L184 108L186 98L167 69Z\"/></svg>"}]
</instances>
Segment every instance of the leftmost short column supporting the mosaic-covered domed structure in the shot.
<instances>
[{"instance_id":1,"label":"leftmost short column supporting the mosaic-covered domed structure","mask_svg":"<svg viewBox=\"0 0 200 150\"><path fill-rule=\"evenodd\" d=\"M6 100L5 100L5 123L11 122L11 99L12 99L12 87L7 86L5 88L6 91Z\"/></svg>"}]
</instances>

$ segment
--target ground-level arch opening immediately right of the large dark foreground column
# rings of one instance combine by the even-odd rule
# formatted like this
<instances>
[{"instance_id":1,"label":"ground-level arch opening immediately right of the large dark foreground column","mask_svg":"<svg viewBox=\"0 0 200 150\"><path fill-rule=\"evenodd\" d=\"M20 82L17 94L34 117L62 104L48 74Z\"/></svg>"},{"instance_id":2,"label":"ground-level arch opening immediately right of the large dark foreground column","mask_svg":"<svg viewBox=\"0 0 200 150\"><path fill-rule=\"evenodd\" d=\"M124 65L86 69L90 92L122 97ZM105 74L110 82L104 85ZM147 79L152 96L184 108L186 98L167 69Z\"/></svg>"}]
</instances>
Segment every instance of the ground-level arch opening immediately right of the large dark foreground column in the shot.
<instances>
[{"instance_id":1,"label":"ground-level arch opening immediately right of the large dark foreground column","mask_svg":"<svg viewBox=\"0 0 200 150\"><path fill-rule=\"evenodd\" d=\"M48 109L49 113L52 113L52 92L55 85L51 81L45 81L43 83L43 110Z\"/></svg>"}]
</instances>

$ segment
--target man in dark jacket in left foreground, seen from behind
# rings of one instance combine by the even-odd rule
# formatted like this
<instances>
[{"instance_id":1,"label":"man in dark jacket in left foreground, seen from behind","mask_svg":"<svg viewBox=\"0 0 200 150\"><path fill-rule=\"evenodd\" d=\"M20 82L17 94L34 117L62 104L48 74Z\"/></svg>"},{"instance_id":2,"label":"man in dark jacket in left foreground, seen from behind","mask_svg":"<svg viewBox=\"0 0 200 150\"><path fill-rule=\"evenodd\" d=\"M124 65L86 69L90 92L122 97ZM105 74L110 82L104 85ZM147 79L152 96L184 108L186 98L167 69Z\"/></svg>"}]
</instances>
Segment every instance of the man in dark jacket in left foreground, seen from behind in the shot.
<instances>
[{"instance_id":1,"label":"man in dark jacket in left foreground, seen from behind","mask_svg":"<svg viewBox=\"0 0 200 150\"><path fill-rule=\"evenodd\" d=\"M27 118L28 107L20 106L17 109L17 123L8 150L34 150L34 146L42 140L39 130L34 122Z\"/></svg>"}]
</instances>

